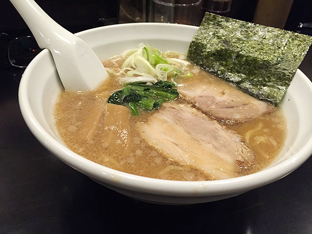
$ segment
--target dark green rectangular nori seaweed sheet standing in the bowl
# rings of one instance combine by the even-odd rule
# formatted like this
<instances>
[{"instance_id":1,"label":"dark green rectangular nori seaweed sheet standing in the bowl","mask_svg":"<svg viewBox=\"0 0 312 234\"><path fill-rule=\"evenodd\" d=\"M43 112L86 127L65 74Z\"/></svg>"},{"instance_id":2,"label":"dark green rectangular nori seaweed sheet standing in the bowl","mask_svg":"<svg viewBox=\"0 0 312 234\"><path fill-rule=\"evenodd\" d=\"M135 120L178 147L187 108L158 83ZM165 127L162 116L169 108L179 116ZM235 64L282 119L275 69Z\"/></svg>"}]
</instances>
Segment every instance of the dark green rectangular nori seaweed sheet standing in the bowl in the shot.
<instances>
[{"instance_id":1,"label":"dark green rectangular nori seaweed sheet standing in the bowl","mask_svg":"<svg viewBox=\"0 0 312 234\"><path fill-rule=\"evenodd\" d=\"M307 35L206 13L187 58L277 106L311 43Z\"/></svg>"}]
</instances>

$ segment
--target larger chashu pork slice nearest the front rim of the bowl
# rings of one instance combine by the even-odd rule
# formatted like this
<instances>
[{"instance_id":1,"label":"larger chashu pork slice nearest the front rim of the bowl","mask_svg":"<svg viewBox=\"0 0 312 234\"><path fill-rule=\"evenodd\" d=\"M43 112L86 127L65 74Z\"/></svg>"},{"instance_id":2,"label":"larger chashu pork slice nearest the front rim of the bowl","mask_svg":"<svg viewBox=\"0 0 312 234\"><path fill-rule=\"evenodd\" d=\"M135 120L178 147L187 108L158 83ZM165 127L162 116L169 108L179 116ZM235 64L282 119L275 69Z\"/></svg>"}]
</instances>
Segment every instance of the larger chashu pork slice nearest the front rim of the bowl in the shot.
<instances>
[{"instance_id":1,"label":"larger chashu pork slice nearest the front rim of the bowl","mask_svg":"<svg viewBox=\"0 0 312 234\"><path fill-rule=\"evenodd\" d=\"M253 164L253 153L238 134L190 105L164 103L146 122L137 123L137 129L165 156L213 179L236 177Z\"/></svg>"}]
</instances>

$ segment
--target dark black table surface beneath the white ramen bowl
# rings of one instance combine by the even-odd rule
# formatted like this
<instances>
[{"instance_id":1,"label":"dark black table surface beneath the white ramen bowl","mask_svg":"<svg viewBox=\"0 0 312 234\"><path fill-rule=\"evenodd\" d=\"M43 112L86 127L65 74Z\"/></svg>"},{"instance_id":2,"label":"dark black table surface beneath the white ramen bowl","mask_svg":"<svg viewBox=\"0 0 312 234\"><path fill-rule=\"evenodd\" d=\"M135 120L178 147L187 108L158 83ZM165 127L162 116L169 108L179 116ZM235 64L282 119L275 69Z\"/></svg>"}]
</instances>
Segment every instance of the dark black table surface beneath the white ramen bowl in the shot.
<instances>
[{"instance_id":1,"label":"dark black table surface beneath the white ramen bowl","mask_svg":"<svg viewBox=\"0 0 312 234\"><path fill-rule=\"evenodd\" d=\"M312 78L312 50L300 69ZM137 201L65 165L33 137L20 114L21 73L0 73L0 234L312 233L312 157L233 198L185 206Z\"/></svg>"}]
</instances>

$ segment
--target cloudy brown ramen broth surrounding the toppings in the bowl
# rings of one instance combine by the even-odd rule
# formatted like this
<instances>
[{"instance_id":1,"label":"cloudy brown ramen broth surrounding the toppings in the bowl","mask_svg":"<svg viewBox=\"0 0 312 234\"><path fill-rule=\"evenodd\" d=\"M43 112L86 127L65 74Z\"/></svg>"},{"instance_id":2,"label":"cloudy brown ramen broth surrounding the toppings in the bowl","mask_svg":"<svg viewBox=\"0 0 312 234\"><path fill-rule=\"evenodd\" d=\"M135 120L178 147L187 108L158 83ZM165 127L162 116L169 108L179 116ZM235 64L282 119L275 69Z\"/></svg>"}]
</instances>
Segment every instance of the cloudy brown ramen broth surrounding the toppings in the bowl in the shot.
<instances>
[{"instance_id":1,"label":"cloudy brown ramen broth surrounding the toppings in the bowl","mask_svg":"<svg viewBox=\"0 0 312 234\"><path fill-rule=\"evenodd\" d=\"M113 57L104 61L103 64L112 72L117 73L122 62L123 59L120 57ZM194 77L188 79L208 79L211 85L227 85L195 65L191 66L193 66L191 70L194 72ZM186 78L177 78L176 81L183 82L183 79L185 81ZM187 83L187 80L185 82ZM92 132L92 136L88 136L88 132L83 126L90 118L90 113L94 111L94 105L98 104L98 98L108 97L110 93L120 88L122 86L118 83L117 77L111 75L97 90L62 91L59 94L55 105L55 124L59 136L73 152L98 164L138 176L170 180L213 179L208 173L195 167L178 164L142 139L136 130L136 124L145 122L153 112L140 111L139 116L129 115L128 138L131 144L129 144L126 154L116 149L116 145L112 146L107 143L105 131L102 131L105 113L100 114L97 128ZM187 103L183 98L177 98L176 102ZM261 115L244 123L231 125L224 121L220 123L241 135L245 144L254 152L254 165L239 172L237 176L251 174L267 167L284 145L287 126L283 113L278 108L272 113Z\"/></svg>"}]
</instances>

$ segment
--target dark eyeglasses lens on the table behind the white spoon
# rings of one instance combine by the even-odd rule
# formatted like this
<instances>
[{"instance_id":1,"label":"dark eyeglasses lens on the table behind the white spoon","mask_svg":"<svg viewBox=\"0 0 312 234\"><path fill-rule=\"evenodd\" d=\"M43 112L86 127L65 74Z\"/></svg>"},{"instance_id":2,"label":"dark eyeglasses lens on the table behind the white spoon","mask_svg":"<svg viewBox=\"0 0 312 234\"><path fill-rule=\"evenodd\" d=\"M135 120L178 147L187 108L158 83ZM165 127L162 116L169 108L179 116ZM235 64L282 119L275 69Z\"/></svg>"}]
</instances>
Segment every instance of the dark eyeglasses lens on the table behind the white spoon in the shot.
<instances>
[{"instance_id":1,"label":"dark eyeglasses lens on the table behind the white spoon","mask_svg":"<svg viewBox=\"0 0 312 234\"><path fill-rule=\"evenodd\" d=\"M8 66L25 68L42 49L39 48L33 36L15 38L8 43L7 61Z\"/></svg>"}]
</instances>

